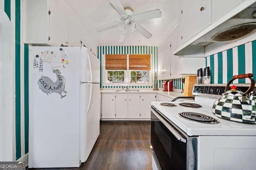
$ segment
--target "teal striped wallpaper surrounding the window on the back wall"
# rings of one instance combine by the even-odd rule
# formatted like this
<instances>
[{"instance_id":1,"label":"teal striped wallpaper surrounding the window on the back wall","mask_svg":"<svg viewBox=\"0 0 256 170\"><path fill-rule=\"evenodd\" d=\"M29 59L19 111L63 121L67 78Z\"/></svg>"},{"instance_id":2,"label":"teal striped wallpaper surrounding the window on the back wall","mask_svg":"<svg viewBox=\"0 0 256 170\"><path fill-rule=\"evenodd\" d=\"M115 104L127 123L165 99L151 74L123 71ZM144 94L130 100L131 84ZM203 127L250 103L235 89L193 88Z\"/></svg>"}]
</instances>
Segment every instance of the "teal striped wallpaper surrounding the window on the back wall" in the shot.
<instances>
[{"instance_id":1,"label":"teal striped wallpaper surrounding the window on the back wall","mask_svg":"<svg viewBox=\"0 0 256 170\"><path fill-rule=\"evenodd\" d=\"M102 80L102 55L104 54L152 54L153 63L151 70L157 69L158 47L156 46L99 46L97 57L100 59L100 88L120 88L121 86L103 86ZM154 80L153 80L154 81ZM129 88L153 88L153 86L129 86Z\"/></svg>"}]
</instances>

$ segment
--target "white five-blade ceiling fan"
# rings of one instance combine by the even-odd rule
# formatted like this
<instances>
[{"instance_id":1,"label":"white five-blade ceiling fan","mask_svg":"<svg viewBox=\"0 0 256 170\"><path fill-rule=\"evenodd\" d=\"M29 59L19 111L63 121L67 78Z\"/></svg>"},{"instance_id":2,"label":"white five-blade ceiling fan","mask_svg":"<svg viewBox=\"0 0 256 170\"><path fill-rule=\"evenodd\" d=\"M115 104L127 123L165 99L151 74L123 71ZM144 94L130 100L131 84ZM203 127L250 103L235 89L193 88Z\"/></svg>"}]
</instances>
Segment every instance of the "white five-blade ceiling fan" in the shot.
<instances>
[{"instance_id":1,"label":"white five-blade ceiling fan","mask_svg":"<svg viewBox=\"0 0 256 170\"><path fill-rule=\"evenodd\" d=\"M141 35L149 39L152 37L152 34L144 29L141 25L137 23L137 21L148 20L152 18L160 18L162 16L162 12L160 10L152 10L148 12L143 12L140 14L134 14L134 11L130 7L123 7L119 0L109 0L109 2L116 8L117 12L121 15L119 21L112 21L109 23L103 23L100 25L95 25L95 29L102 29L106 27L110 27L112 25L118 25L118 28L121 31L119 42L123 42L125 35L128 33L132 33L134 31L138 31Z\"/></svg>"}]
</instances>

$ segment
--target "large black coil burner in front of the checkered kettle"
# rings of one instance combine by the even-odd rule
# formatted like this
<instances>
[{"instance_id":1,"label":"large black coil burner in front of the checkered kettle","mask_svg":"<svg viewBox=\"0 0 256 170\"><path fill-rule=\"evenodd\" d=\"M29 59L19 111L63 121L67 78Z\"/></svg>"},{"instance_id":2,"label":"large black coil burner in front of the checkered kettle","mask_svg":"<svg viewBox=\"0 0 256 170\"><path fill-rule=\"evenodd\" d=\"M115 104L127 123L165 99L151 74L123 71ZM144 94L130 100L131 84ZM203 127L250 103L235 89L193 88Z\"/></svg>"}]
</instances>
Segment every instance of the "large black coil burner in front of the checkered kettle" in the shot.
<instances>
[{"instance_id":1,"label":"large black coil burner in front of the checkered kettle","mask_svg":"<svg viewBox=\"0 0 256 170\"><path fill-rule=\"evenodd\" d=\"M213 117L210 117L208 115L204 115L201 113L195 113L195 112L182 112L178 113L178 115L182 118L192 120L192 121L197 121L200 123L208 123L208 124L218 124L220 121L217 119L214 119Z\"/></svg>"}]
</instances>

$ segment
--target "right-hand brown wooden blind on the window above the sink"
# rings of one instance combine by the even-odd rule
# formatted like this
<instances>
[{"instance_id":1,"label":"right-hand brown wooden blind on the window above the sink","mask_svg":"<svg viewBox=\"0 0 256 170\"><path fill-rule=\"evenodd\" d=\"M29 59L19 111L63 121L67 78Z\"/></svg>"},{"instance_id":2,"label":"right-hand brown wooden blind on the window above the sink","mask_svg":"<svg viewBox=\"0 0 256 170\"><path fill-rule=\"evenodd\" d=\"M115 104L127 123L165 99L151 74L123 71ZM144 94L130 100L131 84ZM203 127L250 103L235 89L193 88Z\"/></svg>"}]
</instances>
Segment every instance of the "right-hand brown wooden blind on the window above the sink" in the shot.
<instances>
[{"instance_id":1,"label":"right-hand brown wooden blind on the window above the sink","mask_svg":"<svg viewBox=\"0 0 256 170\"><path fill-rule=\"evenodd\" d=\"M129 70L150 70L150 54L130 54Z\"/></svg>"}]
</instances>

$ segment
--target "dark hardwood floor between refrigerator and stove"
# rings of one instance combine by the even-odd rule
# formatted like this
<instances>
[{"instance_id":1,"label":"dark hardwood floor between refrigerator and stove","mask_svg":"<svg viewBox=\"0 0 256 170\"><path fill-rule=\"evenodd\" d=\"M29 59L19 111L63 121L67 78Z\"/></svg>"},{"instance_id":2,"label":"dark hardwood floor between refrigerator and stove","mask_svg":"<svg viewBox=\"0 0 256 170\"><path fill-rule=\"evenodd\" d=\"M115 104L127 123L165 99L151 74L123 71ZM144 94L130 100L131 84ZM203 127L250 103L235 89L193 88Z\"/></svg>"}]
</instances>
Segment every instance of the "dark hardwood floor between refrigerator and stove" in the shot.
<instances>
[{"instance_id":1,"label":"dark hardwood floor between refrigerator and stove","mask_svg":"<svg viewBox=\"0 0 256 170\"><path fill-rule=\"evenodd\" d=\"M36 169L42 170L30 170ZM150 121L101 121L100 136L86 162L79 168L47 169L152 170Z\"/></svg>"}]
</instances>

